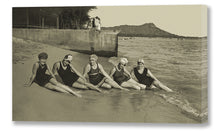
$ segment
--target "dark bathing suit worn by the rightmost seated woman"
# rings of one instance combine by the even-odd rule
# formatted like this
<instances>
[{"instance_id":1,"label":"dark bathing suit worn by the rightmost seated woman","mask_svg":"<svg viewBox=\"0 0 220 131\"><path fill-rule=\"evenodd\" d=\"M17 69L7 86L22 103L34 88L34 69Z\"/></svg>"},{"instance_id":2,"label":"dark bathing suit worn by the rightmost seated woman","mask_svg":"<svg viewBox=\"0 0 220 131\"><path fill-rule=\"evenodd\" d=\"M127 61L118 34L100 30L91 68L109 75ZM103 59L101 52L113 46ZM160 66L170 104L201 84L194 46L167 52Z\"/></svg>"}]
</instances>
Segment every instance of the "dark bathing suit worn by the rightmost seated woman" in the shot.
<instances>
[{"instance_id":1,"label":"dark bathing suit worn by the rightmost seated woman","mask_svg":"<svg viewBox=\"0 0 220 131\"><path fill-rule=\"evenodd\" d=\"M148 69L146 67L144 68L144 71L142 74L140 74L138 72L137 67L134 68L134 74L135 74L136 78L138 79L138 82L146 85L147 87L150 87L151 84L153 83L154 79L147 76L147 72L148 72Z\"/></svg>"}]
</instances>

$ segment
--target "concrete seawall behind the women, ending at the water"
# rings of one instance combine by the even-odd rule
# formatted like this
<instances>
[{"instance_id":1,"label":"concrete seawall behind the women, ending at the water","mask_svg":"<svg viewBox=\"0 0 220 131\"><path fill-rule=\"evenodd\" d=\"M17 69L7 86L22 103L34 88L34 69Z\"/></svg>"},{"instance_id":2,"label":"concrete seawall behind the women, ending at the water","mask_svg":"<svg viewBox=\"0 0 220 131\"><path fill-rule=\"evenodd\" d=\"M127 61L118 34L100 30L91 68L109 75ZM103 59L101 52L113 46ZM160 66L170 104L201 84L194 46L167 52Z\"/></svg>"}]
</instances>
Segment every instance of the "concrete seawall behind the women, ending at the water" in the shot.
<instances>
[{"instance_id":1,"label":"concrete seawall behind the women, ending at the water","mask_svg":"<svg viewBox=\"0 0 220 131\"><path fill-rule=\"evenodd\" d=\"M107 57L118 55L118 33L70 29L13 29L13 37L51 45L65 45L73 51Z\"/></svg>"}]
</instances>

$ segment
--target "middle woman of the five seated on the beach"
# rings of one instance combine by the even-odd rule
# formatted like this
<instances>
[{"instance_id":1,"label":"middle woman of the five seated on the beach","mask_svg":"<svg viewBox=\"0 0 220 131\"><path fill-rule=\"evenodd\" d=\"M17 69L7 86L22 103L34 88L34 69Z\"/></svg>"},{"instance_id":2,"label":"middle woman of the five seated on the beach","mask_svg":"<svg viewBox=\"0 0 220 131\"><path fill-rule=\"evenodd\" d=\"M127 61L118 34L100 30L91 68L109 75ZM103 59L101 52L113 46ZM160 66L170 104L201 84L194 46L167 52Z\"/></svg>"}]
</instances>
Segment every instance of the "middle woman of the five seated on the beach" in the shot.
<instances>
[{"instance_id":1,"label":"middle woman of the five seated on the beach","mask_svg":"<svg viewBox=\"0 0 220 131\"><path fill-rule=\"evenodd\" d=\"M111 77L105 72L102 65L97 62L98 57L96 55L90 55L89 63L84 68L83 76L89 76L89 82L97 87L103 87L110 89L111 87L127 90L119 86L114 82Z\"/></svg>"}]
</instances>

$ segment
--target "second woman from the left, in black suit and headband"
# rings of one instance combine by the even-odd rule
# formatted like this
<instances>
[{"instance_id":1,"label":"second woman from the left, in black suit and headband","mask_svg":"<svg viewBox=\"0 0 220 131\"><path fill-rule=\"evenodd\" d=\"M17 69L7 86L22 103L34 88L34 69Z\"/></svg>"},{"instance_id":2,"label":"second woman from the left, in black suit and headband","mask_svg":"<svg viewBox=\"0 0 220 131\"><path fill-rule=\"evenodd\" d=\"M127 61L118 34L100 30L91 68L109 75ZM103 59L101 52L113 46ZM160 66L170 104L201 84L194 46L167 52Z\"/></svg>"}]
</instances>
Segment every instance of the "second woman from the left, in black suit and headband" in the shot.
<instances>
[{"instance_id":1,"label":"second woman from the left, in black suit and headband","mask_svg":"<svg viewBox=\"0 0 220 131\"><path fill-rule=\"evenodd\" d=\"M67 86L79 89L92 89L102 92L94 85L86 82L86 79L71 64L72 59L72 55L68 54L62 61L56 62L53 66L53 74L59 75L63 83Z\"/></svg>"}]
</instances>

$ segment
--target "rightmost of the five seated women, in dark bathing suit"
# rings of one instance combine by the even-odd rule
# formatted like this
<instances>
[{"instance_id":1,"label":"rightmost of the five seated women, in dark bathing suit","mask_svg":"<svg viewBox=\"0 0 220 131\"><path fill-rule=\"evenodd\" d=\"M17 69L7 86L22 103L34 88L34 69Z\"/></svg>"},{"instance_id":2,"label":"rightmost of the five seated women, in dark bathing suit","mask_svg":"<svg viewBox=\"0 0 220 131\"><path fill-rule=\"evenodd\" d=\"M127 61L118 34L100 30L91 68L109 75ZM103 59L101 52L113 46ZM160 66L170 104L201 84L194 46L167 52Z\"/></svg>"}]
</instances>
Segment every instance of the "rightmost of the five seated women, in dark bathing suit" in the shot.
<instances>
[{"instance_id":1,"label":"rightmost of the five seated women, in dark bathing suit","mask_svg":"<svg viewBox=\"0 0 220 131\"><path fill-rule=\"evenodd\" d=\"M167 92L173 92L170 88L163 85L148 68L144 66L144 60L139 59L137 61L137 66L131 71L132 76L139 83L146 85L147 89L161 88Z\"/></svg>"}]
</instances>

